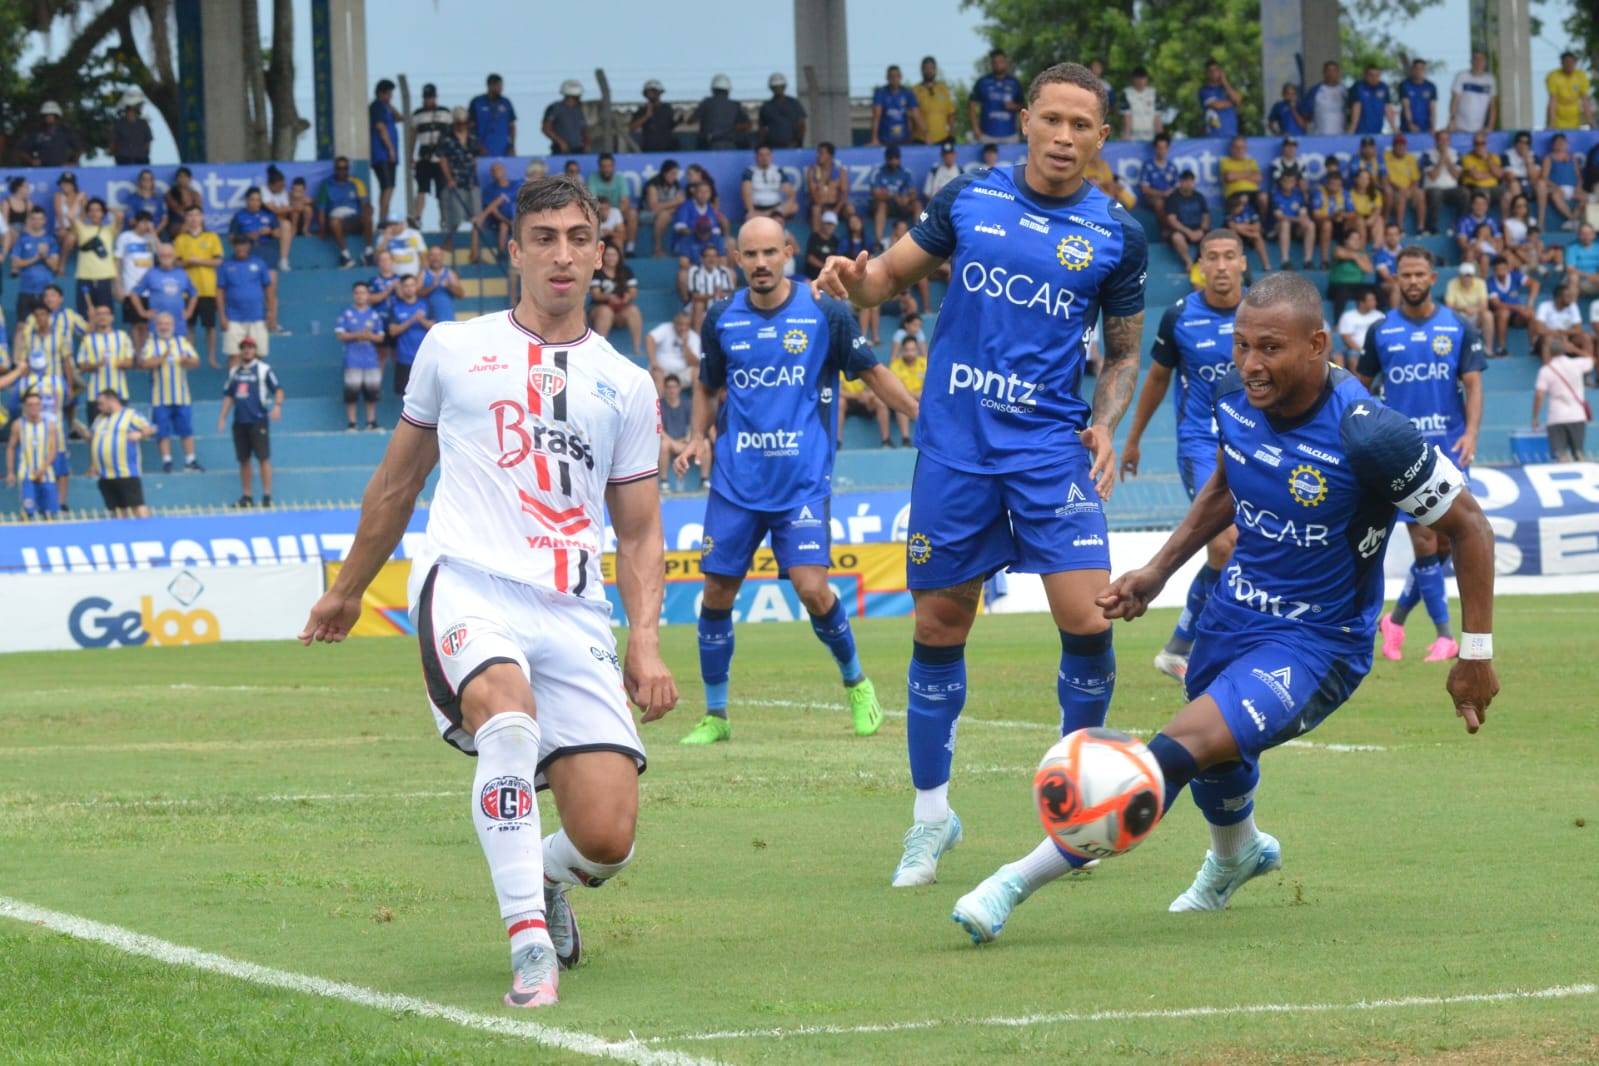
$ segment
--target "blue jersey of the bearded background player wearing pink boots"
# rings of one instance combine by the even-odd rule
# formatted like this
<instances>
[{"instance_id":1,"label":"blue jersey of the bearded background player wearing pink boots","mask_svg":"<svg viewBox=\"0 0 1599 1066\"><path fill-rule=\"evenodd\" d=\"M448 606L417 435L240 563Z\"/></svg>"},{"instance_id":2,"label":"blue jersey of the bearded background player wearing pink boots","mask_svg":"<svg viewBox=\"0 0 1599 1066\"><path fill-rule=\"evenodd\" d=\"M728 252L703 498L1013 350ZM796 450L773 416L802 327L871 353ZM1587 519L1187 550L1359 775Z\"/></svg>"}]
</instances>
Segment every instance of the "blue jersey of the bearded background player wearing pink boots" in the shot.
<instances>
[{"instance_id":1,"label":"blue jersey of the bearded background player wearing pink boots","mask_svg":"<svg viewBox=\"0 0 1599 1066\"><path fill-rule=\"evenodd\" d=\"M1450 449L1466 432L1460 380L1487 369L1487 360L1482 337L1449 307L1425 321L1396 308L1366 331L1356 369L1382 380L1383 403L1410 419L1430 444Z\"/></svg>"}]
</instances>

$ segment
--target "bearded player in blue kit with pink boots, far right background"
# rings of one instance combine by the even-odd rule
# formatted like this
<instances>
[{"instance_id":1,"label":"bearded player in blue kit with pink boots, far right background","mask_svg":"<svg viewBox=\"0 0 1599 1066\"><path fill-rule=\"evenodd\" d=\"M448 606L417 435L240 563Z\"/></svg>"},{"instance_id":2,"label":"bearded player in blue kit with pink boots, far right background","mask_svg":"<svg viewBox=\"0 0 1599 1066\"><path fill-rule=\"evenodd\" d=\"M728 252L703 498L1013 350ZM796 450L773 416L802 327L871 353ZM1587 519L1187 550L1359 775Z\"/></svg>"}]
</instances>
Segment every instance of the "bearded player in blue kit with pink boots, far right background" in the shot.
<instances>
[{"instance_id":1,"label":"bearded player in blue kit with pink boots, far right background","mask_svg":"<svg viewBox=\"0 0 1599 1066\"><path fill-rule=\"evenodd\" d=\"M1433 302L1438 270L1433 253L1420 246L1399 253L1396 272L1399 307L1366 331L1366 350L1356 376L1382 388L1383 403L1410 419L1430 444L1438 444L1469 471L1482 425L1482 371L1487 358L1482 337L1449 307ZM1404 516L1415 563L1393 614L1378 622L1383 658L1404 654L1404 622L1417 603L1426 603L1438 636L1422 662L1441 663L1460 652L1449 620L1444 567L1450 543L1445 534Z\"/></svg>"}]
</instances>

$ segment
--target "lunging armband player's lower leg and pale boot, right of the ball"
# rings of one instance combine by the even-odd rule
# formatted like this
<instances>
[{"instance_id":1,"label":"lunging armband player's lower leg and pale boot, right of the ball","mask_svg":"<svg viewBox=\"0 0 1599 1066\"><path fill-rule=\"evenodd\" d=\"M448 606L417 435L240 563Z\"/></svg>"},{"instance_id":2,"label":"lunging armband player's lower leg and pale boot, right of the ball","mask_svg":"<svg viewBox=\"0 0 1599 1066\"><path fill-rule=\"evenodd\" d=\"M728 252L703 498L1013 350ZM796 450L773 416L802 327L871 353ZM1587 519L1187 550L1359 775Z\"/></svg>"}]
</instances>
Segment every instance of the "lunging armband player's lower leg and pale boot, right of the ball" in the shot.
<instances>
[{"instance_id":1,"label":"lunging armband player's lower leg and pale boot, right of the ball","mask_svg":"<svg viewBox=\"0 0 1599 1066\"><path fill-rule=\"evenodd\" d=\"M1255 786L1260 767L1226 762L1210 767L1188 785L1194 804L1210 826L1210 850L1188 890L1169 911L1220 911L1233 893L1260 874L1282 868L1282 845L1255 828Z\"/></svg>"}]
</instances>

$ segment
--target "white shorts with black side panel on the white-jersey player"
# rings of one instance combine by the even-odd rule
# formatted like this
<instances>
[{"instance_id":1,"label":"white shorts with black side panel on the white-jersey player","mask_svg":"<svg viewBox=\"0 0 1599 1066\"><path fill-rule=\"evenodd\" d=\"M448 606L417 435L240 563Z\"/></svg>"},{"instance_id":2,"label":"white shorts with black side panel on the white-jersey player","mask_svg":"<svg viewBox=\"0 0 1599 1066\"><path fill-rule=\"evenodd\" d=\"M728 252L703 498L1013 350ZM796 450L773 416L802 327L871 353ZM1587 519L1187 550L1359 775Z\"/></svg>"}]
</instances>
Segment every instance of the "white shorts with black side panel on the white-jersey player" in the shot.
<instances>
[{"instance_id":1,"label":"white shorts with black side panel on the white-jersey player","mask_svg":"<svg viewBox=\"0 0 1599 1066\"><path fill-rule=\"evenodd\" d=\"M425 574L417 588L417 574ZM611 619L603 607L443 559L413 571L411 620L440 735L477 754L461 726L461 690L494 663L515 663L532 686L539 719L534 788L563 754L619 751L644 772L644 742L622 690Z\"/></svg>"}]
</instances>

